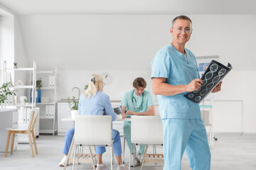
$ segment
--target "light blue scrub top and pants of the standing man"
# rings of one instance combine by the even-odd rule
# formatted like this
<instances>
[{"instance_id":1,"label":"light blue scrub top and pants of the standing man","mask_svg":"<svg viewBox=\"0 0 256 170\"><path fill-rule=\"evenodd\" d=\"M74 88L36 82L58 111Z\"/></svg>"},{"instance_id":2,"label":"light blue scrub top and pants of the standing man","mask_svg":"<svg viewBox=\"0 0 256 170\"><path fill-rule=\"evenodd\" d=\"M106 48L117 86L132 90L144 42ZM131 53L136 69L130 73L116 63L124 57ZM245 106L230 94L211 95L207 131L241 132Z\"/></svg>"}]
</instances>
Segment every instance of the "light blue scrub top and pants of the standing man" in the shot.
<instances>
[{"instance_id":1,"label":"light blue scrub top and pants of the standing man","mask_svg":"<svg viewBox=\"0 0 256 170\"><path fill-rule=\"evenodd\" d=\"M173 45L156 53L151 78L166 78L173 86L189 84L199 78L196 58L185 48L186 57ZM187 92L186 92L187 93ZM192 170L210 169L210 148L199 105L183 95L158 95L164 129L164 170L180 170L185 151Z\"/></svg>"}]
</instances>

